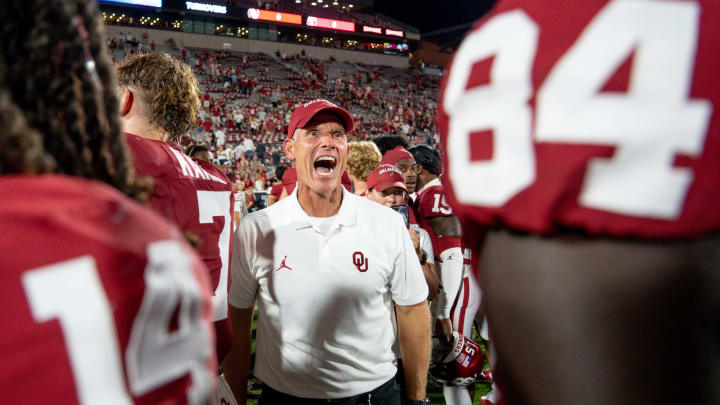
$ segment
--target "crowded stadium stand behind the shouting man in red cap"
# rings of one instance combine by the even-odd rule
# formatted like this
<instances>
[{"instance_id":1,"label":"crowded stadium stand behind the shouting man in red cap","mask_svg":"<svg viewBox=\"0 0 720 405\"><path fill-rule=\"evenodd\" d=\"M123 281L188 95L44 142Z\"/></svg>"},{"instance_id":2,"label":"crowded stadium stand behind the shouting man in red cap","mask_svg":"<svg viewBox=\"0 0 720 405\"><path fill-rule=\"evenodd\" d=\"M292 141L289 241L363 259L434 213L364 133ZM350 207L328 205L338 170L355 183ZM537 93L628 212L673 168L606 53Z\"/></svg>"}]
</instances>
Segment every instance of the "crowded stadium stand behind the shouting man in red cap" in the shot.
<instances>
[{"instance_id":1,"label":"crowded stadium stand behind the shouting man in red cap","mask_svg":"<svg viewBox=\"0 0 720 405\"><path fill-rule=\"evenodd\" d=\"M113 37L108 45L119 61L127 54L149 52L148 41ZM417 69L320 61L302 54L180 49L173 43L155 44L154 49L184 59L202 91L198 126L183 145L208 145L228 175L246 179L244 185L257 191L267 188L277 164L289 163L282 141L292 107L316 98L351 111L359 124L353 140L402 134L411 144L436 142L432 100L438 78ZM253 176L262 184L252 181Z\"/></svg>"}]
</instances>

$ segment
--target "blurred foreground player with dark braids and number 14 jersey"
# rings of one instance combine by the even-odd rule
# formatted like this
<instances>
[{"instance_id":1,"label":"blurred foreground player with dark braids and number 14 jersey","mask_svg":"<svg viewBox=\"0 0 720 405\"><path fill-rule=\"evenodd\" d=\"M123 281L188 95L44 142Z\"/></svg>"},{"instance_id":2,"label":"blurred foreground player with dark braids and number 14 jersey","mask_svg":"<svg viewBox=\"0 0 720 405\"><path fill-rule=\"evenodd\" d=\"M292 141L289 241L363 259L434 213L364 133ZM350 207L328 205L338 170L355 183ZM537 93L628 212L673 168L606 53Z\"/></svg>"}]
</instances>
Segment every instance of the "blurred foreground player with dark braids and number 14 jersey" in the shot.
<instances>
[{"instance_id":1,"label":"blurred foreground player with dark braids and number 14 jersey","mask_svg":"<svg viewBox=\"0 0 720 405\"><path fill-rule=\"evenodd\" d=\"M0 2L0 395L202 404L216 360L202 262L131 198L92 0Z\"/></svg>"}]
</instances>

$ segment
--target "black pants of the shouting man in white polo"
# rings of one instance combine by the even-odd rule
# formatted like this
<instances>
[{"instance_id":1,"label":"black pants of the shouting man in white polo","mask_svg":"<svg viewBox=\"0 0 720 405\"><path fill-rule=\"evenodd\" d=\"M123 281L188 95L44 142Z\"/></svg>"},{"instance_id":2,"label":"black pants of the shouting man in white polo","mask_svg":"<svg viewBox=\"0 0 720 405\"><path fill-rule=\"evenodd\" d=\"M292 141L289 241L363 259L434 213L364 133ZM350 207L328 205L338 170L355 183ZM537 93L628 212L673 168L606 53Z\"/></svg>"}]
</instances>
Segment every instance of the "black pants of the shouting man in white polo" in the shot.
<instances>
[{"instance_id":1,"label":"black pants of the shouting man in white polo","mask_svg":"<svg viewBox=\"0 0 720 405\"><path fill-rule=\"evenodd\" d=\"M320 404L336 404L336 405L400 405L400 389L395 383L395 378L391 378L385 384L375 388L370 392L355 395L347 398L336 399L315 399L315 398L299 398L292 395L284 394L270 388L267 384L262 386L262 394L258 405L275 405L275 404L295 404L295 405L320 405Z\"/></svg>"}]
</instances>

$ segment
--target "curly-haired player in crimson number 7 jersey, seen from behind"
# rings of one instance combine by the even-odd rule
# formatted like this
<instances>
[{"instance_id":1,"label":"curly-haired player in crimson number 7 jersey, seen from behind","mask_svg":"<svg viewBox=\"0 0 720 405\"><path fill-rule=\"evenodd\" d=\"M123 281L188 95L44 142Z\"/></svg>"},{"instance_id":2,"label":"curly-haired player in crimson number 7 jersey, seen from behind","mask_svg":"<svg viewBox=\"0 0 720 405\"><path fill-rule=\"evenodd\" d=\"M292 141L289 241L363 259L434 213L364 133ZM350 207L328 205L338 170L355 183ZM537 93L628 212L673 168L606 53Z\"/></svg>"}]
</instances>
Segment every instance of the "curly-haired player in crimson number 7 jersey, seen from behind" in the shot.
<instances>
[{"instance_id":1,"label":"curly-haired player in crimson number 7 jersey, seen from behind","mask_svg":"<svg viewBox=\"0 0 720 405\"><path fill-rule=\"evenodd\" d=\"M176 142L197 121L197 81L186 64L159 52L118 66L120 120L138 175L155 180L150 206L199 239L210 271L218 360L230 351L228 266L233 231L232 184L213 164L183 154Z\"/></svg>"}]
</instances>

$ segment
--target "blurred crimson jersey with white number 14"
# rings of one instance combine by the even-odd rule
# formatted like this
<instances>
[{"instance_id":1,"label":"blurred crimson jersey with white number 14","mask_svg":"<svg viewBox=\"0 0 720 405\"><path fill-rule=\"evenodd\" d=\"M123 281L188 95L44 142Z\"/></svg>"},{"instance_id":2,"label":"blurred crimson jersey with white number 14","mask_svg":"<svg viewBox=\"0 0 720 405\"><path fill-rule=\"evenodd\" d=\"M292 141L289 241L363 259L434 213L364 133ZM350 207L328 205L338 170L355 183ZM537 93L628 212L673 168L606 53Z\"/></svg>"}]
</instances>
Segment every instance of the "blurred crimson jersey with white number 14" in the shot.
<instances>
[{"instance_id":1,"label":"blurred crimson jersey with white number 14","mask_svg":"<svg viewBox=\"0 0 720 405\"><path fill-rule=\"evenodd\" d=\"M177 230L72 177L2 176L0 201L2 401L201 403L209 281Z\"/></svg>"}]
</instances>

